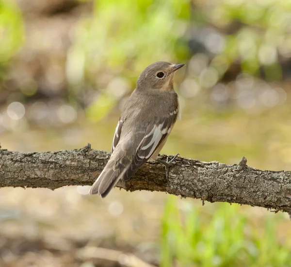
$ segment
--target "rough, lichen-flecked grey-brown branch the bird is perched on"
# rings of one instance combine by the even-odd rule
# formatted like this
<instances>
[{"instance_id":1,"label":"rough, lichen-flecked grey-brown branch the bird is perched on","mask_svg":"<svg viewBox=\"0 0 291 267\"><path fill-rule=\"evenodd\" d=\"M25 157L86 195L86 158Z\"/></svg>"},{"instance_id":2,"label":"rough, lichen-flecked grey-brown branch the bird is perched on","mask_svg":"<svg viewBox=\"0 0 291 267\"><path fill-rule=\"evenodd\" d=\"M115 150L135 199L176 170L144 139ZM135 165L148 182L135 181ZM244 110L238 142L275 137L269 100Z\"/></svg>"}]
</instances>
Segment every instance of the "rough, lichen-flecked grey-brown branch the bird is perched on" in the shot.
<instances>
[{"instance_id":1,"label":"rough, lichen-flecked grey-brown branch the bird is perched on","mask_svg":"<svg viewBox=\"0 0 291 267\"><path fill-rule=\"evenodd\" d=\"M91 149L90 144L59 152L21 153L0 150L0 187L46 187L91 185L104 168L109 152ZM161 159L166 156L162 155ZM128 191L162 191L210 202L230 202L264 207L291 214L289 171L262 171L246 165L227 165L178 157L170 167L146 163L133 178L118 187Z\"/></svg>"}]
</instances>

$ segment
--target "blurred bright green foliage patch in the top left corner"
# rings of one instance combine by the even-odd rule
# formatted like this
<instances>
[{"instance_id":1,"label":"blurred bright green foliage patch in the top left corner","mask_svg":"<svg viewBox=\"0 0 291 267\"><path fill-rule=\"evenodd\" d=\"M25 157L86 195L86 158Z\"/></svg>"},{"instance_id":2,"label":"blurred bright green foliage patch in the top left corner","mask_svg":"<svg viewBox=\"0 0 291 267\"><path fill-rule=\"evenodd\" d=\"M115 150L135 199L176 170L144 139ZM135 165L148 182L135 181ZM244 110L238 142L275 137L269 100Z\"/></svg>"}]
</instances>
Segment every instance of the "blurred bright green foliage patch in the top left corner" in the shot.
<instances>
[{"instance_id":1,"label":"blurred bright green foliage patch in the top left corner","mask_svg":"<svg viewBox=\"0 0 291 267\"><path fill-rule=\"evenodd\" d=\"M24 23L14 1L0 0L0 65L8 63L24 41Z\"/></svg>"}]
</instances>

